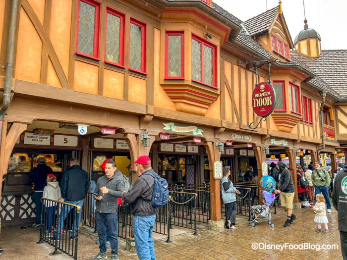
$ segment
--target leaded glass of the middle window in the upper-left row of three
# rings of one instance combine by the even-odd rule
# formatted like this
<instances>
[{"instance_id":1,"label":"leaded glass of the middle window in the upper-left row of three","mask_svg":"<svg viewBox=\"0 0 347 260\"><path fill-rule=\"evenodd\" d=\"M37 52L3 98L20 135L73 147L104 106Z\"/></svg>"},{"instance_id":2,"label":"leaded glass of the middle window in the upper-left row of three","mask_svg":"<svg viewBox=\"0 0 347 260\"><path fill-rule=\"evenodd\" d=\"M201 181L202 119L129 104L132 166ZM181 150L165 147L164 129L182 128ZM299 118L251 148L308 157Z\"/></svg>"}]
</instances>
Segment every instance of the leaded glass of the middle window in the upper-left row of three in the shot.
<instances>
[{"instance_id":1,"label":"leaded glass of the middle window in the upper-left row of three","mask_svg":"<svg viewBox=\"0 0 347 260\"><path fill-rule=\"evenodd\" d=\"M120 50L120 17L107 13L106 35L106 60L121 63L119 61Z\"/></svg>"}]
</instances>

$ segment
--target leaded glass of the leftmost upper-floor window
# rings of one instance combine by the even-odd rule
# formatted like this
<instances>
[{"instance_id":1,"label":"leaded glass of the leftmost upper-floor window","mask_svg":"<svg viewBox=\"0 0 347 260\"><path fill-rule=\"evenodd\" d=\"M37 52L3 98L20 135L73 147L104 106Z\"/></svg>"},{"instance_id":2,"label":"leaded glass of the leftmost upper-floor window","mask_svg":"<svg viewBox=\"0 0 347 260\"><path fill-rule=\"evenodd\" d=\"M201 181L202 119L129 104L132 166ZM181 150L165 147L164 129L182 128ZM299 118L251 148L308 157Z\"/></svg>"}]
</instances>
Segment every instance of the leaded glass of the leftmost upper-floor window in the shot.
<instances>
[{"instance_id":1,"label":"leaded glass of the leftmost upper-floor window","mask_svg":"<svg viewBox=\"0 0 347 260\"><path fill-rule=\"evenodd\" d=\"M77 51L94 56L95 6L80 1Z\"/></svg>"}]
</instances>

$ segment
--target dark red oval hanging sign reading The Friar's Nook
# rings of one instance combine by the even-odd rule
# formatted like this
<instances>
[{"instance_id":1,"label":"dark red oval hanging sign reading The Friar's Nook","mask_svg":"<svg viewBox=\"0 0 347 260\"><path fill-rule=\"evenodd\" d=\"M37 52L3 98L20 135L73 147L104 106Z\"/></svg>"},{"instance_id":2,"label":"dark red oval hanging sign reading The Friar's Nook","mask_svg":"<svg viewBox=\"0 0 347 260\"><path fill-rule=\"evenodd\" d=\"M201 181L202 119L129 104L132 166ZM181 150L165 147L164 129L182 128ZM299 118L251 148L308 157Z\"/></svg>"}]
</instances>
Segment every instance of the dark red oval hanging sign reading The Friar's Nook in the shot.
<instances>
[{"instance_id":1,"label":"dark red oval hanging sign reading The Friar's Nook","mask_svg":"<svg viewBox=\"0 0 347 260\"><path fill-rule=\"evenodd\" d=\"M252 106L254 112L265 117L274 111L276 105L276 92L267 82L260 82L252 94Z\"/></svg>"}]
</instances>

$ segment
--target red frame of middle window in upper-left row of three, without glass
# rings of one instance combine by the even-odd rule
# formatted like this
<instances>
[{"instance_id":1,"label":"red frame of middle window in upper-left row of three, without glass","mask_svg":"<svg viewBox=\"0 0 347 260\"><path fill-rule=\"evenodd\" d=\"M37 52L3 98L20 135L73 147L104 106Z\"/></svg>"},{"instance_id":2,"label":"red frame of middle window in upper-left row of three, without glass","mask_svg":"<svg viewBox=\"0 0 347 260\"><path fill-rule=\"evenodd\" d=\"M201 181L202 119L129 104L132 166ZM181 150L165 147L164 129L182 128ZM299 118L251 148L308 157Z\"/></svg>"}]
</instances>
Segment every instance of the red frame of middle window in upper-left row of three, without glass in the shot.
<instances>
[{"instance_id":1,"label":"red frame of middle window in upper-left row of three, without glass","mask_svg":"<svg viewBox=\"0 0 347 260\"><path fill-rule=\"evenodd\" d=\"M112 62L106 59L106 43L107 43L107 14L110 13L120 18L119 28L119 63ZM124 32L125 32L125 14L121 13L109 6L106 7L106 19L105 19L105 63L112 64L121 68L124 67Z\"/></svg>"}]
</instances>

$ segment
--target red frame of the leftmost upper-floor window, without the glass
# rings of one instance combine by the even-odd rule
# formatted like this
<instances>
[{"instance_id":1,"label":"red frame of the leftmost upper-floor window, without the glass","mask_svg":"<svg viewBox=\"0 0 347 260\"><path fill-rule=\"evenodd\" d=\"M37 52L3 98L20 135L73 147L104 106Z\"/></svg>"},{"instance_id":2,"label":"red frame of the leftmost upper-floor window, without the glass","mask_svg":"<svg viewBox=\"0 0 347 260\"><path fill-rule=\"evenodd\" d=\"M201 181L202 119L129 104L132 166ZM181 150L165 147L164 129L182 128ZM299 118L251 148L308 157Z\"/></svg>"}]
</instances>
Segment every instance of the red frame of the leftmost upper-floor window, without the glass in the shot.
<instances>
[{"instance_id":1,"label":"red frame of the leftmost upper-floor window, without the glass","mask_svg":"<svg viewBox=\"0 0 347 260\"><path fill-rule=\"evenodd\" d=\"M78 52L78 33L79 33L79 11L81 4L80 2L85 2L87 4L93 5L95 7L95 21L94 21L94 49L93 49L93 56ZM100 60L99 58L99 45L100 45L100 2L97 2L95 0L79 0L78 1L78 10L77 10L77 37L76 37L76 54L85 56L88 58Z\"/></svg>"}]
</instances>

